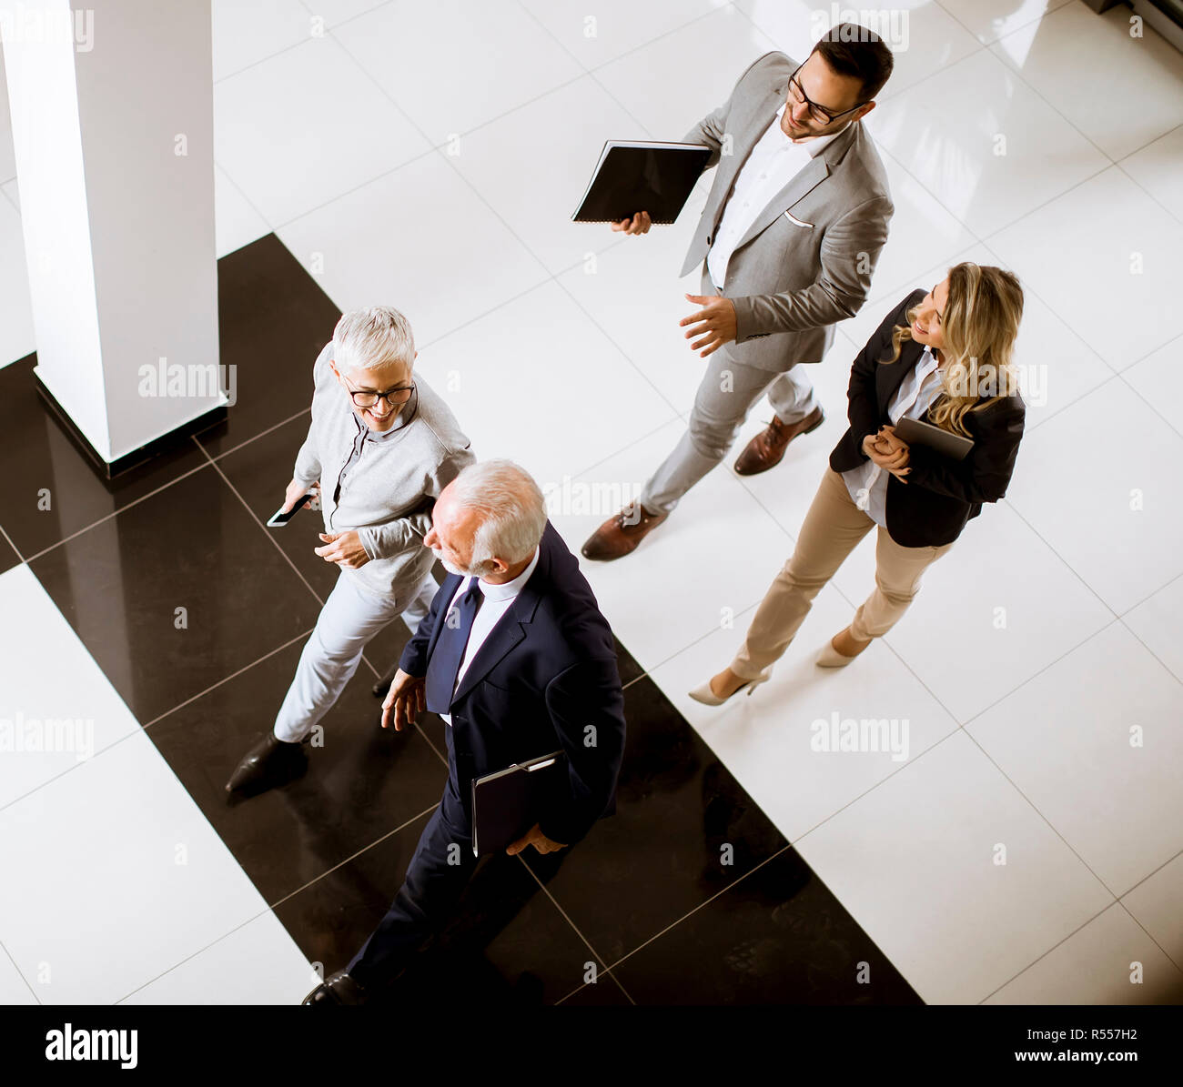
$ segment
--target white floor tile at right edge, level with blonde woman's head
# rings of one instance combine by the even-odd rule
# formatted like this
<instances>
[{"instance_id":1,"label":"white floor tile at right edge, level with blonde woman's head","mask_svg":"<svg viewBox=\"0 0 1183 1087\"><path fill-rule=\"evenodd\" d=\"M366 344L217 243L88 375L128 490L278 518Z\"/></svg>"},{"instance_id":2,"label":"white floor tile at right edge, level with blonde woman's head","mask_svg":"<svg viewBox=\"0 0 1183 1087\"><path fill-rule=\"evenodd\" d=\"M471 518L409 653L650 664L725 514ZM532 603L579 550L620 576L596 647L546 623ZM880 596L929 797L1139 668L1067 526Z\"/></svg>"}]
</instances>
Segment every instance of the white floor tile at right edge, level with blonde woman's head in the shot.
<instances>
[{"instance_id":1,"label":"white floor tile at right edge, level with blonde woman's head","mask_svg":"<svg viewBox=\"0 0 1183 1087\"><path fill-rule=\"evenodd\" d=\"M987 244L1116 370L1183 332L1183 224L1116 167Z\"/></svg>"}]
</instances>

